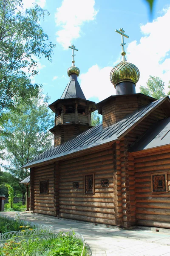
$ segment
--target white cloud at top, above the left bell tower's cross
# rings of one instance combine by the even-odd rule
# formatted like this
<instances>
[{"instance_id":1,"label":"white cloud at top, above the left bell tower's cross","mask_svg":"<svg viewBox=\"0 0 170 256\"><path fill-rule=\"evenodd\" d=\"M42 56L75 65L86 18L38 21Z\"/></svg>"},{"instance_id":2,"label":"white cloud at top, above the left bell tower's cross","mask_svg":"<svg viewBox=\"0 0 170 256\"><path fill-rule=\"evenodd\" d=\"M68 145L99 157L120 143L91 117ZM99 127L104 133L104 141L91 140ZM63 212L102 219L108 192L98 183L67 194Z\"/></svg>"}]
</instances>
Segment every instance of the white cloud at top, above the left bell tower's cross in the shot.
<instances>
[{"instance_id":1,"label":"white cloud at top, above the left bell tower's cross","mask_svg":"<svg viewBox=\"0 0 170 256\"><path fill-rule=\"evenodd\" d=\"M81 26L84 22L94 20L97 11L94 9L95 0L63 0L61 7L57 8L55 22L62 29L57 31L57 42L64 49L80 37Z\"/></svg>"}]
</instances>

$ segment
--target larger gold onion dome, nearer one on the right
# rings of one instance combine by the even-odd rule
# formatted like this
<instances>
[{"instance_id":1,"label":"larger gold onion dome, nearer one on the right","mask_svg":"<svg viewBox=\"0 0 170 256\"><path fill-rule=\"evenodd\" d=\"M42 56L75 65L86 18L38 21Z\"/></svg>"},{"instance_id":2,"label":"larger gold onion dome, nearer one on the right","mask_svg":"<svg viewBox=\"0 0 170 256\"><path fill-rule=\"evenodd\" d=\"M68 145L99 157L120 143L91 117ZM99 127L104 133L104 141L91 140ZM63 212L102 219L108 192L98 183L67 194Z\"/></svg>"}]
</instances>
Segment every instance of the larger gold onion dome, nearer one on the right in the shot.
<instances>
[{"instance_id":1,"label":"larger gold onion dome, nearer one on the right","mask_svg":"<svg viewBox=\"0 0 170 256\"><path fill-rule=\"evenodd\" d=\"M117 64L110 73L111 83L116 88L116 84L123 81L131 81L135 85L139 81L140 72L139 69L132 63L126 60Z\"/></svg>"}]
</instances>

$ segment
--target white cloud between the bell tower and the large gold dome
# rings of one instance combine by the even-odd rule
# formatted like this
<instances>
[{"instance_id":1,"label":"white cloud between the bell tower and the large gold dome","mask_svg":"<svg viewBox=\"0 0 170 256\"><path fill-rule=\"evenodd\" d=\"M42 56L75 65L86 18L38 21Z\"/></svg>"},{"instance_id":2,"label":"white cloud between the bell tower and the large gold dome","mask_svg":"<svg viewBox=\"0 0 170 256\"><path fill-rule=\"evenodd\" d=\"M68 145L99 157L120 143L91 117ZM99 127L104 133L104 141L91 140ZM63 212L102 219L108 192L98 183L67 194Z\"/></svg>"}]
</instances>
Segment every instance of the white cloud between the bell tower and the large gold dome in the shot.
<instances>
[{"instance_id":1,"label":"white cloud between the bell tower and the large gold dome","mask_svg":"<svg viewBox=\"0 0 170 256\"><path fill-rule=\"evenodd\" d=\"M86 99L97 97L99 101L115 94L115 88L110 81L112 67L102 69L96 64L88 72L80 75L81 88Z\"/></svg>"}]
</instances>

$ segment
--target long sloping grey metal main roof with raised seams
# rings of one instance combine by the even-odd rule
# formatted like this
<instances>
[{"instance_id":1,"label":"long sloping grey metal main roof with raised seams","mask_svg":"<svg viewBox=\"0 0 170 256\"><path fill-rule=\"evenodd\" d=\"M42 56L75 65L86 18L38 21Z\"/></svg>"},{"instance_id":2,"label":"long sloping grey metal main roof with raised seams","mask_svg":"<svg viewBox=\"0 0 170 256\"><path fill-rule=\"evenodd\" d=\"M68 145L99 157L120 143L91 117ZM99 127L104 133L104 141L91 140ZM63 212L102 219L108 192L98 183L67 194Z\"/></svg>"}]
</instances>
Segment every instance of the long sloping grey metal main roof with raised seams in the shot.
<instances>
[{"instance_id":1,"label":"long sloping grey metal main roof with raised seams","mask_svg":"<svg viewBox=\"0 0 170 256\"><path fill-rule=\"evenodd\" d=\"M155 102L140 108L140 110L133 112L126 116L116 124L103 129L102 125L95 126L88 131L83 132L76 138L69 140L68 142L59 145L57 147L52 146L39 156L35 157L29 163L23 166L23 168L29 168L38 163L43 163L49 160L57 159L65 155L82 151L88 148L92 148L104 143L108 143L117 139L120 139L127 134L130 129L137 125L145 116L151 113L154 108L158 107L161 103L167 100L168 97L159 99Z\"/></svg>"}]
</instances>

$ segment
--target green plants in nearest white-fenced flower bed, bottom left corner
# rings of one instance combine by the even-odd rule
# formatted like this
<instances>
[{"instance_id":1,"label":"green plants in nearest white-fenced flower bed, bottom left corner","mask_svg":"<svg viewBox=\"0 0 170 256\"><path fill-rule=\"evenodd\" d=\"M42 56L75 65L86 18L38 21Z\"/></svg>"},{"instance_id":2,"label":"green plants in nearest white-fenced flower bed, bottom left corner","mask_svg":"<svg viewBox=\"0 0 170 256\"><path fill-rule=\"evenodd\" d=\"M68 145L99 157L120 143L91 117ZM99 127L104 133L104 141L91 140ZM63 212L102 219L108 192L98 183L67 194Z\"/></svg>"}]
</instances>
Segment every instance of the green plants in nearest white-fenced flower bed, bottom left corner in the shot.
<instances>
[{"instance_id":1,"label":"green plants in nearest white-fenced flower bed, bottom left corner","mask_svg":"<svg viewBox=\"0 0 170 256\"><path fill-rule=\"evenodd\" d=\"M40 238L19 242L14 239L6 242L0 248L0 255L6 256L80 256L83 243L73 234L59 232L55 239L41 240Z\"/></svg>"}]
</instances>

